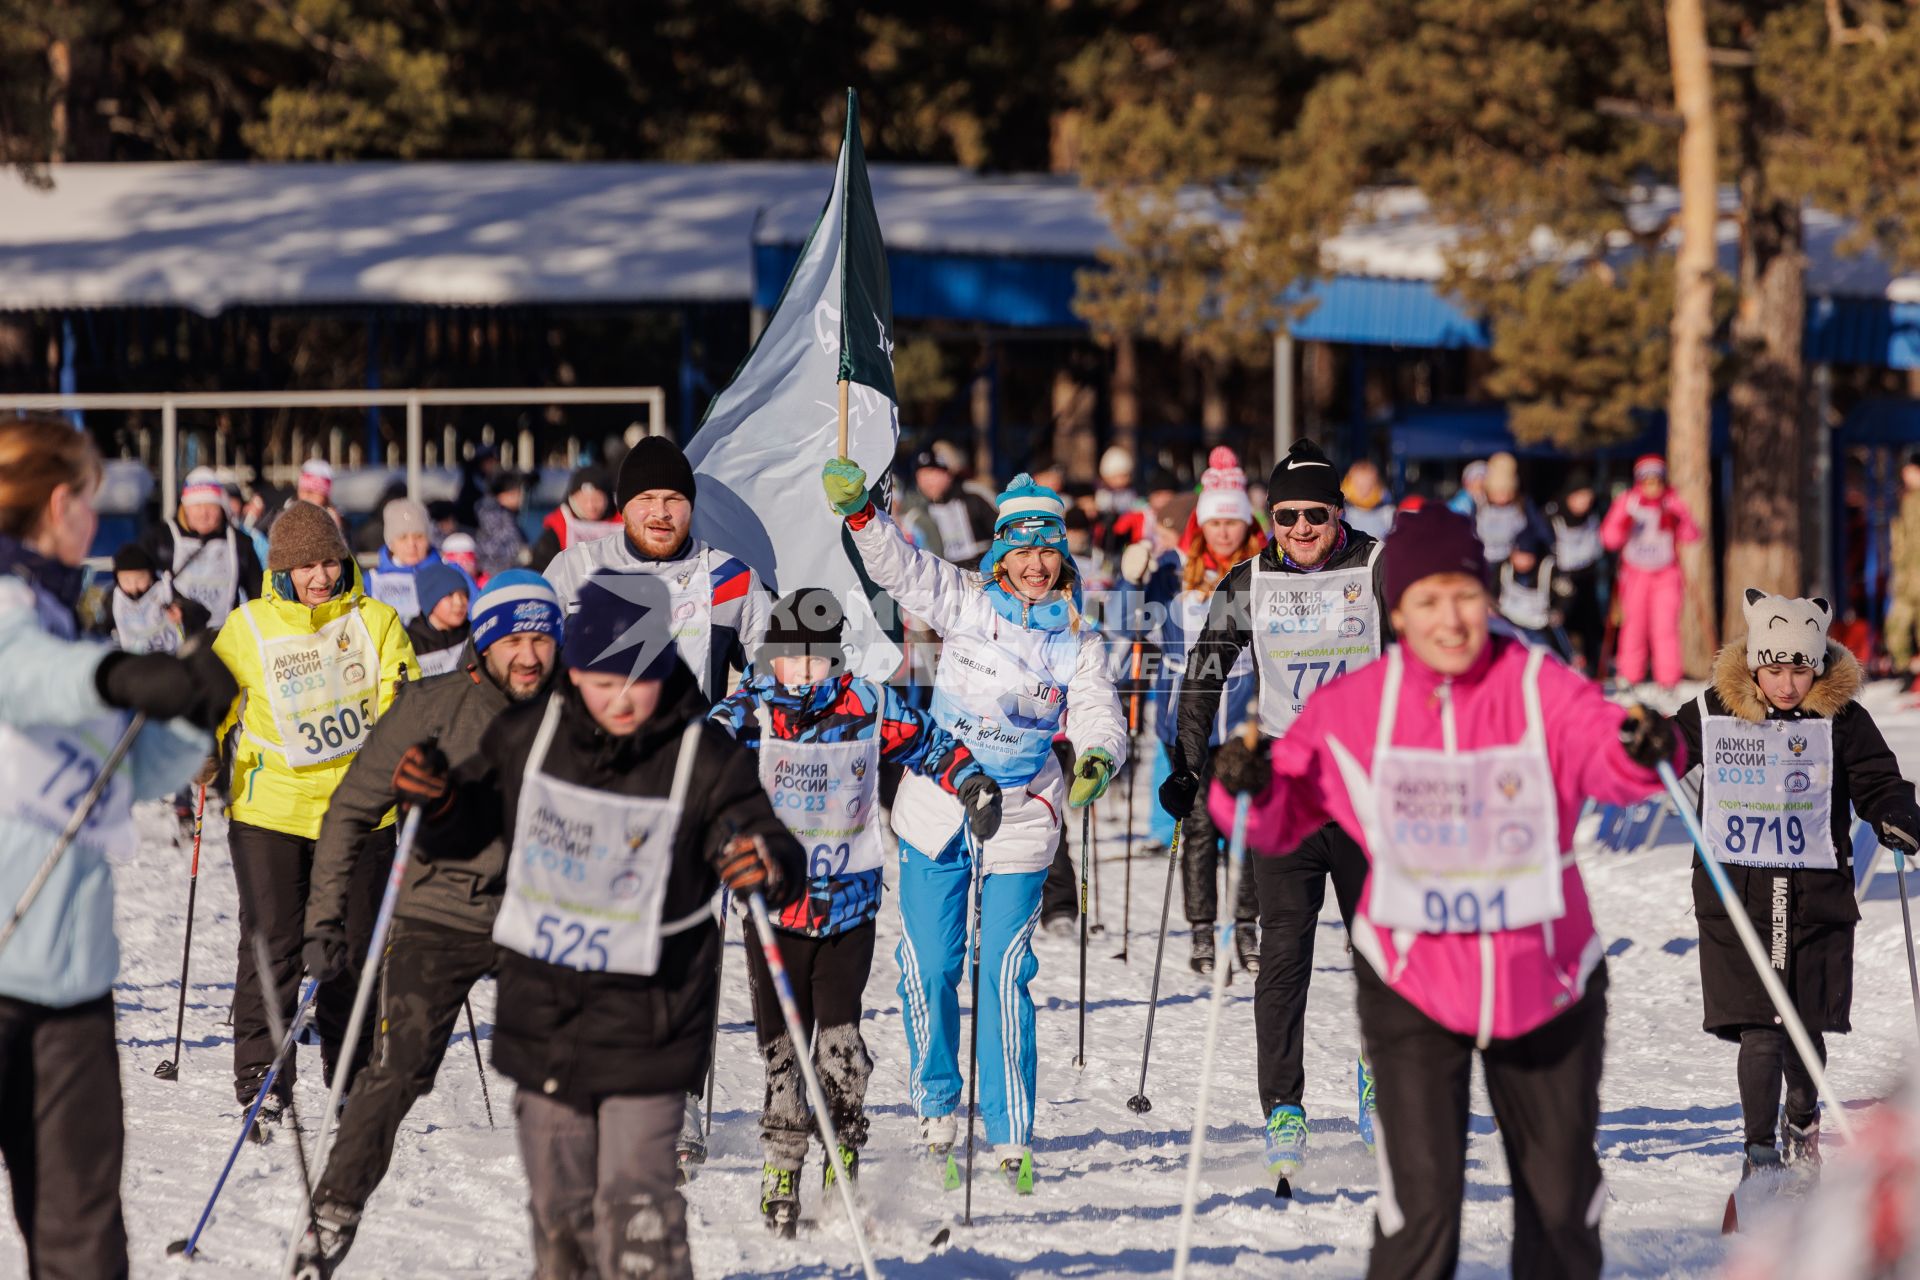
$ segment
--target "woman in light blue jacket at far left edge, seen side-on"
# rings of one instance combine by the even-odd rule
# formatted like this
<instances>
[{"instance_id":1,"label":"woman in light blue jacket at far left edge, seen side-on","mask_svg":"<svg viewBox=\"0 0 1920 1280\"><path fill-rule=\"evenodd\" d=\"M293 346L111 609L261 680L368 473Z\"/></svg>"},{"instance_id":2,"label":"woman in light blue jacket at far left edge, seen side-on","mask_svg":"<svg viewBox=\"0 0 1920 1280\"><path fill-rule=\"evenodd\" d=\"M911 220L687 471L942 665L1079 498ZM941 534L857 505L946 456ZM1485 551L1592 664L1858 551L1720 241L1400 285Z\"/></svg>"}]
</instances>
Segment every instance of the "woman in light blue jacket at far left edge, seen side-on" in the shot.
<instances>
[{"instance_id":1,"label":"woman in light blue jacket at far left edge, seen side-on","mask_svg":"<svg viewBox=\"0 0 1920 1280\"><path fill-rule=\"evenodd\" d=\"M132 802L184 785L234 681L213 651L115 652L77 639L100 455L58 418L0 424L0 904L29 881L129 725L148 716L90 819L0 950L0 1157L27 1274L127 1276L113 873Z\"/></svg>"}]
</instances>

